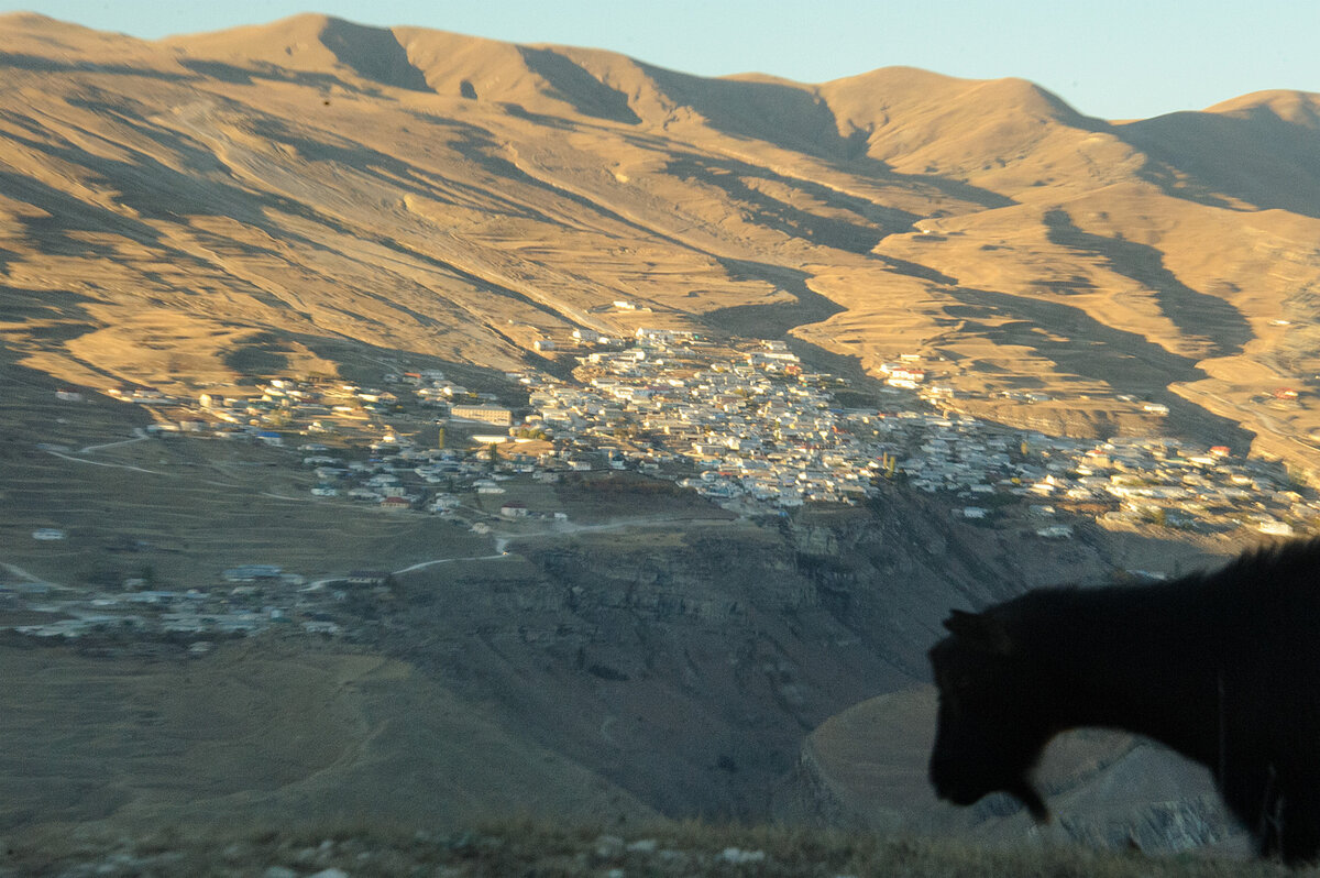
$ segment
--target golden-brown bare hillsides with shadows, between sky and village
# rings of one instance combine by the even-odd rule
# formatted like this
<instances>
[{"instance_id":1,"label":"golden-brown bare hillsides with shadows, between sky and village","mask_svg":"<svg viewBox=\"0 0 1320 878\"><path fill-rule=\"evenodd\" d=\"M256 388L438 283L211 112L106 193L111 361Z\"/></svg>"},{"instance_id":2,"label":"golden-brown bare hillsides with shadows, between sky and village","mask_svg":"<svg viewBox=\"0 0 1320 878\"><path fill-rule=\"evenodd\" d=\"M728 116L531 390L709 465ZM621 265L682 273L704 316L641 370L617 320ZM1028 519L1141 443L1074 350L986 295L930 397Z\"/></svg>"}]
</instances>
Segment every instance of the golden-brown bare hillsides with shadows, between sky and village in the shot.
<instances>
[{"instance_id":1,"label":"golden-brown bare hillsides with shadows, between sky and village","mask_svg":"<svg viewBox=\"0 0 1320 878\"><path fill-rule=\"evenodd\" d=\"M1119 124L1016 79L702 79L315 15L0 37L0 338L63 382L506 368L689 326L1313 463L1312 94ZM1279 387L1299 404L1263 409Z\"/></svg>"}]
</instances>

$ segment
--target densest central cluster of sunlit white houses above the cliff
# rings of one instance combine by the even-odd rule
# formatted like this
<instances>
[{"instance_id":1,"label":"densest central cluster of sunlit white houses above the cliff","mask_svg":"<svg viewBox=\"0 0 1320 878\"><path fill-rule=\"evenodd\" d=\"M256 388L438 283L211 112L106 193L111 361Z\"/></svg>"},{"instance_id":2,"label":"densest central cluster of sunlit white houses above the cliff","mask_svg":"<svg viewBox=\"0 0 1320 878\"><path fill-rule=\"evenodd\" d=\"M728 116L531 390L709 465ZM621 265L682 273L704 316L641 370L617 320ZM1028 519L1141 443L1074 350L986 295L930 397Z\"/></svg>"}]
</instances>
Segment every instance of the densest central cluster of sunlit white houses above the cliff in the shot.
<instances>
[{"instance_id":1,"label":"densest central cluster of sunlit white houses above the cliff","mask_svg":"<svg viewBox=\"0 0 1320 878\"><path fill-rule=\"evenodd\" d=\"M713 360L688 333L638 330L636 341L583 358L581 386L531 379L528 420L620 467L659 473L684 458L700 475L680 483L717 500L853 503L874 490L832 409L832 379L805 372L783 342Z\"/></svg>"}]
</instances>

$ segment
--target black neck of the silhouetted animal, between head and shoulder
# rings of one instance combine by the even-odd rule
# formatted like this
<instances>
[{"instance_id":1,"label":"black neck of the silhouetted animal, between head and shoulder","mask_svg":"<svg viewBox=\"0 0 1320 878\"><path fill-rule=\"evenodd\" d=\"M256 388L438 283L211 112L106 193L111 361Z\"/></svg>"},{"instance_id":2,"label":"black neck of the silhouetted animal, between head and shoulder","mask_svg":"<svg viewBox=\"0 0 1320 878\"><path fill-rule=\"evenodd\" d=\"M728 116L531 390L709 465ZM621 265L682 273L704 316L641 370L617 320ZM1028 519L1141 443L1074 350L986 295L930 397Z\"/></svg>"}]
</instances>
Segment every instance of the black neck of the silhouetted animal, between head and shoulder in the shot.
<instances>
[{"instance_id":1,"label":"black neck of the silhouetted animal, between head and shoulder","mask_svg":"<svg viewBox=\"0 0 1320 878\"><path fill-rule=\"evenodd\" d=\"M1214 622L1195 589L1078 591L1053 626L1063 729L1147 735L1212 764L1221 697Z\"/></svg>"}]
</instances>

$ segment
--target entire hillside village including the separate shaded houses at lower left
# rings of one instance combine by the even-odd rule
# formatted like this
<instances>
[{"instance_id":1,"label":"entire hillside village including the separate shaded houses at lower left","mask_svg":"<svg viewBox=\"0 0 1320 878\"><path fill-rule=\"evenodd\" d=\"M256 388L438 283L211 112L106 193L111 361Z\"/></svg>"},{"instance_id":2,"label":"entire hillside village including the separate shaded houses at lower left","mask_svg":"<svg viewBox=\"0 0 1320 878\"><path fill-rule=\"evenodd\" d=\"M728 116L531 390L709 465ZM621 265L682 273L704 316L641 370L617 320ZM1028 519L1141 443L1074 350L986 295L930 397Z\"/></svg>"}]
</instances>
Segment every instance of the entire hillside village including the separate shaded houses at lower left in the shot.
<instances>
[{"instance_id":1,"label":"entire hillside village including the separate shaded houses at lower left","mask_svg":"<svg viewBox=\"0 0 1320 878\"><path fill-rule=\"evenodd\" d=\"M669 481L746 516L858 504L887 485L940 495L973 524L1038 539L1071 539L1086 519L1111 528L1288 536L1320 515L1320 502L1290 486L1282 467L1224 446L1071 440L942 412L945 392L925 387L913 356L886 366L878 404L845 408L837 396L857 396L847 382L807 370L783 342L638 330L626 343L593 334L585 345L572 382L533 370L508 374L508 387L525 393L516 404L506 404L510 393L473 392L437 370L383 374L388 389L272 378L242 397L186 400L150 388L111 395L156 412L143 441L205 437L286 449L289 465L314 478L317 502L440 515L506 539L529 523L568 523L561 510L516 499L517 486L594 470ZM61 391L65 403L81 399L79 391ZM41 528L33 537L61 533ZM261 564L215 573L211 585L183 590L125 582L123 591L77 595L11 582L0 601L59 615L13 626L24 635L111 632L205 648L207 638L271 627L342 635L346 599L389 593L388 572L358 570L312 586Z\"/></svg>"}]
</instances>

